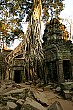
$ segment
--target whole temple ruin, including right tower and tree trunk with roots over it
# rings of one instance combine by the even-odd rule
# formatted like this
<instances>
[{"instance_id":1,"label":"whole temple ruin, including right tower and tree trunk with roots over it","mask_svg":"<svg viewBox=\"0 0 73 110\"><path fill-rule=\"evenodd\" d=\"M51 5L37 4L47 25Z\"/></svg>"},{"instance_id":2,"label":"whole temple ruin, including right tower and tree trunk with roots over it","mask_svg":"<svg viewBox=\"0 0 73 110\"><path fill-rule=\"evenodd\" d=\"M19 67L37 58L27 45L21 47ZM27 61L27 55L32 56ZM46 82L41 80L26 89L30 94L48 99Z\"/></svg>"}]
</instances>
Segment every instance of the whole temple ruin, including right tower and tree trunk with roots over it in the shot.
<instances>
[{"instance_id":1,"label":"whole temple ruin, including right tower and tree trunk with roots over it","mask_svg":"<svg viewBox=\"0 0 73 110\"><path fill-rule=\"evenodd\" d=\"M36 1L34 0L36 4ZM40 40L41 2L34 5L31 22L23 41L5 56L5 74L1 79L16 83L36 79L64 82L73 79L73 44L65 25L53 18L46 24L43 43Z\"/></svg>"}]
</instances>

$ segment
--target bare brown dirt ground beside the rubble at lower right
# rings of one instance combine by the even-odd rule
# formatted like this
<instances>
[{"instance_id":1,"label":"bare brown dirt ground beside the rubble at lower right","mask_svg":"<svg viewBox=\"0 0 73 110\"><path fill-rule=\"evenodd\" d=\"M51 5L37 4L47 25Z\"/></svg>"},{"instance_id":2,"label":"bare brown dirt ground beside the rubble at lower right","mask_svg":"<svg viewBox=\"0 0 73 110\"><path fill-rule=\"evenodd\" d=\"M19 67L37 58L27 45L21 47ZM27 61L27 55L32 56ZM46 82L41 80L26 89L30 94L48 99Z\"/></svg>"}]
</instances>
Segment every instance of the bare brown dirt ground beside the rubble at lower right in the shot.
<instances>
[{"instance_id":1,"label":"bare brown dirt ground beside the rubble at lower right","mask_svg":"<svg viewBox=\"0 0 73 110\"><path fill-rule=\"evenodd\" d=\"M57 94L54 94L52 91L45 91L45 94L48 99L49 105L53 104L55 101L60 102L63 110L73 110L73 102L69 100L64 100L59 97Z\"/></svg>"}]
</instances>

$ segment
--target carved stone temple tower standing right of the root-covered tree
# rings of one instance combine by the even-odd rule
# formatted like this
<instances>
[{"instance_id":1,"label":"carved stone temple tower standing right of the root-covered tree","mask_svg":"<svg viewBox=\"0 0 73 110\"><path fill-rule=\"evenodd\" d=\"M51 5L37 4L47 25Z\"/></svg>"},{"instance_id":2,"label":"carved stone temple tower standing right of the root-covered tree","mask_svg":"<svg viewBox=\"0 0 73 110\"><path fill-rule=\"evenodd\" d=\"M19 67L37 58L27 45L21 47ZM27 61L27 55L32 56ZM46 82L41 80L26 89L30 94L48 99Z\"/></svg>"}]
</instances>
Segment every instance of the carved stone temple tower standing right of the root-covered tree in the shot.
<instances>
[{"instance_id":1,"label":"carved stone temple tower standing right of the root-covered tree","mask_svg":"<svg viewBox=\"0 0 73 110\"><path fill-rule=\"evenodd\" d=\"M47 23L43 35L45 63L48 67L45 74L49 75L52 82L61 83L73 78L73 44L68 37L65 26L57 19Z\"/></svg>"}]
</instances>

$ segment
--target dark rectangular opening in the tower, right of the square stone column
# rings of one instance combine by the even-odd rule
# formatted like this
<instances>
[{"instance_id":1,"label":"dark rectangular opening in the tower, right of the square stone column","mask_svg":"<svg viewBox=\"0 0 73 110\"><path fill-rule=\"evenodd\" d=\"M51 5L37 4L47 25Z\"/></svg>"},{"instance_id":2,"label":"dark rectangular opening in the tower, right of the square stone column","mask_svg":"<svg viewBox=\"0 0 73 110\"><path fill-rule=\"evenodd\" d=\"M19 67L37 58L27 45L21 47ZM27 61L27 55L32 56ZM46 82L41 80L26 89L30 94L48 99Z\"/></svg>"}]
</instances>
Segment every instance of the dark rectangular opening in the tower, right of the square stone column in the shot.
<instances>
[{"instance_id":1,"label":"dark rectangular opening in the tower, right of the square stone column","mask_svg":"<svg viewBox=\"0 0 73 110\"><path fill-rule=\"evenodd\" d=\"M65 80L71 79L72 68L71 68L70 60L63 60L63 73Z\"/></svg>"}]
</instances>

